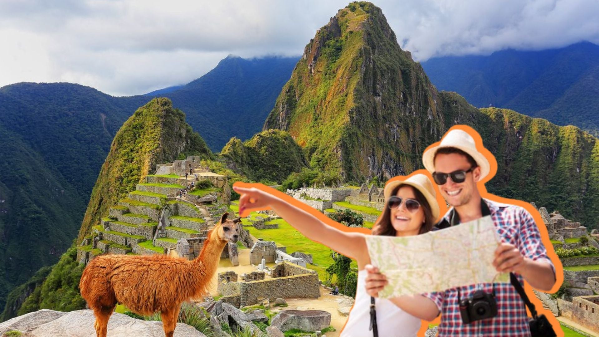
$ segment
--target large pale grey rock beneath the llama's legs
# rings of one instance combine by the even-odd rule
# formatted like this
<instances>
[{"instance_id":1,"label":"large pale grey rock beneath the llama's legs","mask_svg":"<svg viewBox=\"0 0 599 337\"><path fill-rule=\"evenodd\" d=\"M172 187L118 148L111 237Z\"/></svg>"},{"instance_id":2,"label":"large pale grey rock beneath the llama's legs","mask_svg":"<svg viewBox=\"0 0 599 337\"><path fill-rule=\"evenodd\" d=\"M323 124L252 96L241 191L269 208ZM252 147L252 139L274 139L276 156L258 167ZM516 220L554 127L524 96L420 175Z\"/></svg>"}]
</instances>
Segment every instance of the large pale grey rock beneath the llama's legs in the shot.
<instances>
[{"instance_id":1,"label":"large pale grey rock beneath the llama's legs","mask_svg":"<svg viewBox=\"0 0 599 337\"><path fill-rule=\"evenodd\" d=\"M32 314L32 315L31 315ZM47 312L36 311L28 316L29 329L23 331L28 337L47 336L69 336L88 337L94 336L96 331L93 327L95 317L91 310L77 310L71 312L60 312L53 317ZM34 318L39 317L41 324L34 326ZM19 317L17 317L19 318ZM5 323L8 323L5 322ZM175 335L180 337L205 337L205 335L187 324L177 323ZM131 318L128 315L114 313L108 320L108 336L111 337L164 337L162 322L143 321Z\"/></svg>"}]
</instances>

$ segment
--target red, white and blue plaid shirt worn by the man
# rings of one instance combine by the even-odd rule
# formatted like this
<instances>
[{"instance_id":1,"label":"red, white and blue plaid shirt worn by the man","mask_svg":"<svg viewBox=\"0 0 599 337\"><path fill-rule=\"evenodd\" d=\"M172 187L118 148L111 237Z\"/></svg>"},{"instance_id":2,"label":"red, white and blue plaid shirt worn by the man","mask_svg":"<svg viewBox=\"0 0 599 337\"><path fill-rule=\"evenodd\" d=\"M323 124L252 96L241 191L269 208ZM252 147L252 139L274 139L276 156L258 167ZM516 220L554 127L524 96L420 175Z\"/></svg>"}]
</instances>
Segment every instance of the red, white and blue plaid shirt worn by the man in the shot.
<instances>
[{"instance_id":1,"label":"red, white and blue plaid shirt worn by the man","mask_svg":"<svg viewBox=\"0 0 599 337\"><path fill-rule=\"evenodd\" d=\"M539 228L533 216L523 207L486 199L483 201L489 206L491 218L502 241L515 245L522 255L531 260L547 261L555 273L555 267L547 257L547 251L541 242ZM441 222L450 221L450 213L451 210L446 213ZM524 278L518 274L516 277L523 284ZM530 336L526 307L512 284L472 284L459 287L459 296L465 299L479 289L486 293L491 293L495 289L497 316L470 324L462 323L458 305L458 288L423 294L435 302L441 312L438 336Z\"/></svg>"}]
</instances>

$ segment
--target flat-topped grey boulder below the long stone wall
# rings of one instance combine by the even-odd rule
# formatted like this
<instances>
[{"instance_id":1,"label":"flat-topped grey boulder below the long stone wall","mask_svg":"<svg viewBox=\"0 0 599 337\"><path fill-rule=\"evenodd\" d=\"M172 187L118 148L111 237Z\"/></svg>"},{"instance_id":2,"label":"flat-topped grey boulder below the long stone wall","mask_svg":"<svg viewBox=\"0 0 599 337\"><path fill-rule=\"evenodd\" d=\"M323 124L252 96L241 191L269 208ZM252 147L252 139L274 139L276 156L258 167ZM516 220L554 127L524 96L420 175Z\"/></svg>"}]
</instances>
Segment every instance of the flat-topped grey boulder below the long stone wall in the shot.
<instances>
[{"instance_id":1,"label":"flat-topped grey boulder below the long stone wall","mask_svg":"<svg viewBox=\"0 0 599 337\"><path fill-rule=\"evenodd\" d=\"M283 310L270 323L285 332L291 329L317 331L331 325L331 313L323 310Z\"/></svg>"}]
</instances>

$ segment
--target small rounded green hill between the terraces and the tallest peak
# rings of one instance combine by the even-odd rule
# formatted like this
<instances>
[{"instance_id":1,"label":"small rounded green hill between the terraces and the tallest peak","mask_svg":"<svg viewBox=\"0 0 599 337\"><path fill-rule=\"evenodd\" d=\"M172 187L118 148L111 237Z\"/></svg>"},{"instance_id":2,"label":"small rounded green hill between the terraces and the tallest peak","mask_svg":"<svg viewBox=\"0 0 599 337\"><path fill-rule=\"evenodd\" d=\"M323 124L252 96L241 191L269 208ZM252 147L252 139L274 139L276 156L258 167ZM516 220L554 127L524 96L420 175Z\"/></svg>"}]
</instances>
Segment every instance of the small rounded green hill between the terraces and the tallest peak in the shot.
<instances>
[{"instance_id":1,"label":"small rounded green hill between the terraces and the tallest peak","mask_svg":"<svg viewBox=\"0 0 599 337\"><path fill-rule=\"evenodd\" d=\"M243 143L233 137L220 155L249 179L267 183L282 182L289 173L307 166L301 148L280 130L262 131Z\"/></svg>"}]
</instances>

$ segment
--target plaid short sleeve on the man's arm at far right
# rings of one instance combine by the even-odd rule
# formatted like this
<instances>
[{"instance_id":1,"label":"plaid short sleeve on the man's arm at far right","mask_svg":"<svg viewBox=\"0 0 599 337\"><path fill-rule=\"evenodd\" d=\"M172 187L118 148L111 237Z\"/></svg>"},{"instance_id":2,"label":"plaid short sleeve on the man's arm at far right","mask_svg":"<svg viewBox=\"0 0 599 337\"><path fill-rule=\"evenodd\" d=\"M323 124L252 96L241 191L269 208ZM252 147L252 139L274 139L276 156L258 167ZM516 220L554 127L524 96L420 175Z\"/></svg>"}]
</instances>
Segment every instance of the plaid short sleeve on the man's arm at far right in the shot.
<instances>
[{"instance_id":1,"label":"plaid short sleeve on the man's arm at far right","mask_svg":"<svg viewBox=\"0 0 599 337\"><path fill-rule=\"evenodd\" d=\"M544 260L550 264L555 275L555 266L553 262L547 256L547 249L541 241L541 234L539 233L539 227L534 222L533 216L524 208L520 211L520 230L519 230L519 247L520 252L525 257L530 258L533 261Z\"/></svg>"}]
</instances>

